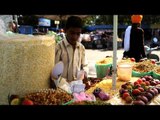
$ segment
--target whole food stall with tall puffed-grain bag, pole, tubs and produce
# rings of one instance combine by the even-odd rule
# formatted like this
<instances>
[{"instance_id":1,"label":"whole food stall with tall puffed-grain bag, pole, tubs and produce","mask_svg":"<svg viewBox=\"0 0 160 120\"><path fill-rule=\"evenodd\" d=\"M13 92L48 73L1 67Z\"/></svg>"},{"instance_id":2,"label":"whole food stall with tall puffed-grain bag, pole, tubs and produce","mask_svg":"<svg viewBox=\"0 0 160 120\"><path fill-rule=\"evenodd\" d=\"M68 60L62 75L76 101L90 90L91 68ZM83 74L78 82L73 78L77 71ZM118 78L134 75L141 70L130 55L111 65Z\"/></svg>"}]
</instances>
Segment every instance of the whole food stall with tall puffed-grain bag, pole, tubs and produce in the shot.
<instances>
[{"instance_id":1,"label":"whole food stall with tall puffed-grain bag, pole, tubs and produce","mask_svg":"<svg viewBox=\"0 0 160 120\"><path fill-rule=\"evenodd\" d=\"M1 36L0 104L159 105L159 65L133 58L117 61L117 16L114 20L113 57L96 62L97 78L84 78L79 71L70 83L61 77L63 63L54 65L53 37Z\"/></svg>"}]
</instances>

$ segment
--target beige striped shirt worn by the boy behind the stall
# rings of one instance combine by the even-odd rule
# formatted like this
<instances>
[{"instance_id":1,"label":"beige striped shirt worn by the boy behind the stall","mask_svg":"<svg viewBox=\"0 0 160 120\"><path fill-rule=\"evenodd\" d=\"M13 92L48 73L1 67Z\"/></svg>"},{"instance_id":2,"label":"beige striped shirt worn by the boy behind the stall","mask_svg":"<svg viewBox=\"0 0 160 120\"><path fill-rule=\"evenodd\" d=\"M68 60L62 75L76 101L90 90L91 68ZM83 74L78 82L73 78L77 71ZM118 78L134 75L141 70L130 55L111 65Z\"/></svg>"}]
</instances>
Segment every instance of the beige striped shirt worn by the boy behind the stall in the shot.
<instances>
[{"instance_id":1,"label":"beige striped shirt worn by the boy behind the stall","mask_svg":"<svg viewBox=\"0 0 160 120\"><path fill-rule=\"evenodd\" d=\"M68 82L76 80L77 72L81 67L86 66L85 62L85 47L77 42L75 50L68 41L63 39L56 45L55 49L55 63L62 61L64 63L63 78Z\"/></svg>"}]
</instances>

